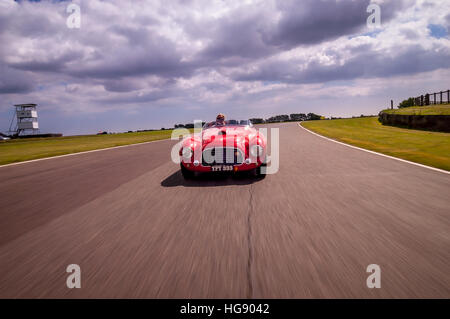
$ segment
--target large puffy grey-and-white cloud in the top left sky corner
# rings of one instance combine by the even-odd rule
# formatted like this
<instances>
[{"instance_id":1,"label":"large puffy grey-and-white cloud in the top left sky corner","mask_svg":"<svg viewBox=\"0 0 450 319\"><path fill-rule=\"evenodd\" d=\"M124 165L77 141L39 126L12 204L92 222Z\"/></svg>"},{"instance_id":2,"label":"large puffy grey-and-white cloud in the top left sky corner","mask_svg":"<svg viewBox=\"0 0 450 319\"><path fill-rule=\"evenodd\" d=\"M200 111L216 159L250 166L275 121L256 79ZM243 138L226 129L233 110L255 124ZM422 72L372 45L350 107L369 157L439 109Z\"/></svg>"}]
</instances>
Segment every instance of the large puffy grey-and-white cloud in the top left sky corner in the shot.
<instances>
[{"instance_id":1,"label":"large puffy grey-and-white cloud in the top left sky corner","mask_svg":"<svg viewBox=\"0 0 450 319\"><path fill-rule=\"evenodd\" d=\"M105 88L114 92L129 92L140 87L134 85L136 81L121 81L124 77L190 77L195 71L195 66L182 62L183 54L177 43L149 29L149 26L157 24L157 19L137 13L136 19L129 19L126 23L111 23L114 14L86 4L82 11L85 24L81 29L73 30L65 25L63 4L58 3L58 7L47 11L44 8L50 8L49 2L25 4L23 9L14 11L16 16L0 13L2 30L8 30L7 34L0 33L0 36L9 41L17 39L28 45L33 43L38 50L10 58L13 61L10 62L5 61L4 56L14 56L15 52L0 48L0 65L35 73L58 72L65 77L84 80L115 79L105 83ZM32 10L32 6L36 6L36 10ZM104 25L98 28L95 17L89 19L87 12L97 15L97 21ZM36 45L39 40L42 41L40 47ZM48 49L43 50L46 46ZM2 54L2 51L5 52Z\"/></svg>"}]
</instances>

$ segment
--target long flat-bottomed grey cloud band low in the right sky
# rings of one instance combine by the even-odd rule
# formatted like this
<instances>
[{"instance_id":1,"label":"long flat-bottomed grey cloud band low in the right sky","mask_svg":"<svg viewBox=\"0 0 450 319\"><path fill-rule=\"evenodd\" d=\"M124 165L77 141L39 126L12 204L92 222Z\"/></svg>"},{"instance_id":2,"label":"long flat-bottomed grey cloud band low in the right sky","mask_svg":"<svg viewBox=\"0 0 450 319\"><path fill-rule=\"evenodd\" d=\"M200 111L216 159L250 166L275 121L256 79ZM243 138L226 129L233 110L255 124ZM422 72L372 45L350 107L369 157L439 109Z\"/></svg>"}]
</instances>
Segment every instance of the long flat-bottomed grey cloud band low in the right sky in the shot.
<instances>
[{"instance_id":1,"label":"long flat-bottomed grey cloud band low in the right sky","mask_svg":"<svg viewBox=\"0 0 450 319\"><path fill-rule=\"evenodd\" d=\"M356 51L360 52L361 48L356 48ZM296 66L294 61L273 61L262 64L254 72L237 72L233 78L236 81L306 84L416 74L449 68L450 51L442 48L425 50L420 45L414 45L406 49L398 48L394 55L367 50L365 53L354 55L344 64L324 65L313 61L301 69L299 66L302 62L304 61L297 61Z\"/></svg>"}]
</instances>

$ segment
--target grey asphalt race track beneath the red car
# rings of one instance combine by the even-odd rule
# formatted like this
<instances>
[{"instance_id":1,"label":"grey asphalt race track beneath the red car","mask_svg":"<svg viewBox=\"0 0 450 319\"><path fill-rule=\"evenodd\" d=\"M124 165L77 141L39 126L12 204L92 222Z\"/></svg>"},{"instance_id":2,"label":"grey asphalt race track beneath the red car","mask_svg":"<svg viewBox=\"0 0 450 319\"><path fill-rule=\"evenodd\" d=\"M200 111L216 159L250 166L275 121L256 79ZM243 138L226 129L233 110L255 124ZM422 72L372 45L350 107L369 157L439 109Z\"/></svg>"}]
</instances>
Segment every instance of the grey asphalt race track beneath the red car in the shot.
<instances>
[{"instance_id":1,"label":"grey asphalt race track beneath the red car","mask_svg":"<svg viewBox=\"0 0 450 319\"><path fill-rule=\"evenodd\" d=\"M0 167L0 297L450 297L450 175L271 127L259 179L186 182L174 141Z\"/></svg>"}]
</instances>

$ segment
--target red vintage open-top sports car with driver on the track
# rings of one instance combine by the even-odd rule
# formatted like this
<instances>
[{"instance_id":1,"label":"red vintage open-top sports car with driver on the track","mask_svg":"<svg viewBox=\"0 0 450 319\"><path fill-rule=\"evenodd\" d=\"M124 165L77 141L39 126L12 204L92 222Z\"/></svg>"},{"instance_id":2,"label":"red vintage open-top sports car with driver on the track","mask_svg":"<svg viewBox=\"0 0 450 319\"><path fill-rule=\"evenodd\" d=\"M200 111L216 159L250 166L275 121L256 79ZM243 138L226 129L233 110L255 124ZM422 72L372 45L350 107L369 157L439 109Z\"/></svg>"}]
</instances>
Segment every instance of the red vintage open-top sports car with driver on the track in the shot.
<instances>
[{"instance_id":1,"label":"red vintage open-top sports car with driver on the track","mask_svg":"<svg viewBox=\"0 0 450 319\"><path fill-rule=\"evenodd\" d=\"M206 123L201 133L184 138L180 149L181 173L251 171L261 175L266 162L266 137L249 120Z\"/></svg>"}]
</instances>

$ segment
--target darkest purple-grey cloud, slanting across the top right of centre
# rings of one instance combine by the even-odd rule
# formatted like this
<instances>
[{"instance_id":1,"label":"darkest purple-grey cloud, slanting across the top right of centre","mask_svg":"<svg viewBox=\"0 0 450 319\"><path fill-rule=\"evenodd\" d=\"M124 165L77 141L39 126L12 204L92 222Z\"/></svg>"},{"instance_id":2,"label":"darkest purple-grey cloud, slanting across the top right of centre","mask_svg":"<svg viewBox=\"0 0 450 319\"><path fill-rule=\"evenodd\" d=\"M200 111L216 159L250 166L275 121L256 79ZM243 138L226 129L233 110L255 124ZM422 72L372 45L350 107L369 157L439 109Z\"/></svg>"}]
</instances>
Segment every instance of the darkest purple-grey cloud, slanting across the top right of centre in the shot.
<instances>
[{"instance_id":1,"label":"darkest purple-grey cloud, slanting across the top right of centre","mask_svg":"<svg viewBox=\"0 0 450 319\"><path fill-rule=\"evenodd\" d=\"M318 44L352 35L366 27L370 0L285 0L275 12L258 8L255 12L235 10L216 21L208 30L189 26L188 32L201 37L206 32L211 43L198 55L205 64L232 66L271 56L298 46ZM381 5L382 23L391 20L403 0ZM279 21L274 19L279 14ZM190 21L195 24L195 21Z\"/></svg>"}]
</instances>

